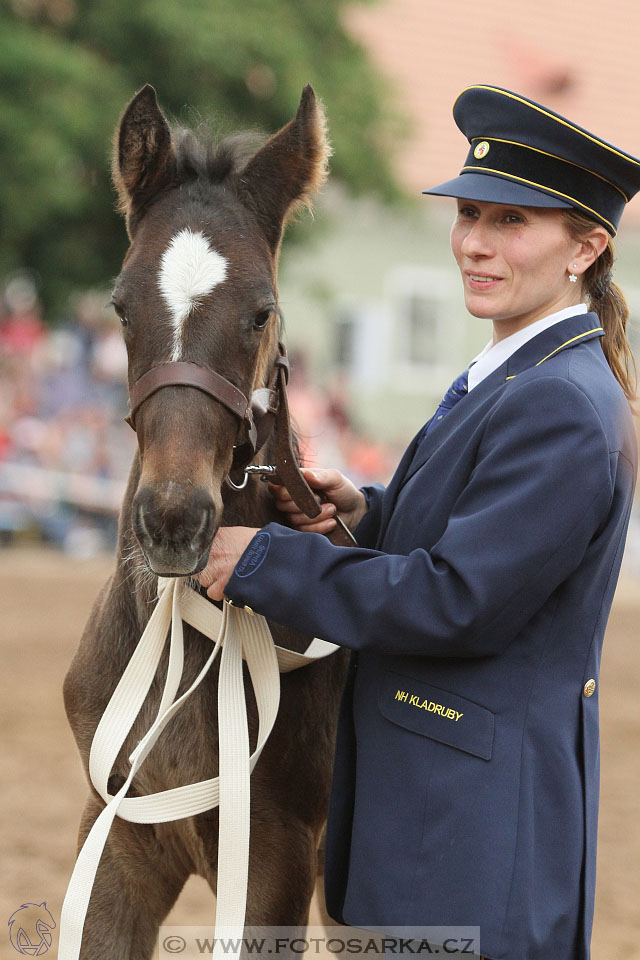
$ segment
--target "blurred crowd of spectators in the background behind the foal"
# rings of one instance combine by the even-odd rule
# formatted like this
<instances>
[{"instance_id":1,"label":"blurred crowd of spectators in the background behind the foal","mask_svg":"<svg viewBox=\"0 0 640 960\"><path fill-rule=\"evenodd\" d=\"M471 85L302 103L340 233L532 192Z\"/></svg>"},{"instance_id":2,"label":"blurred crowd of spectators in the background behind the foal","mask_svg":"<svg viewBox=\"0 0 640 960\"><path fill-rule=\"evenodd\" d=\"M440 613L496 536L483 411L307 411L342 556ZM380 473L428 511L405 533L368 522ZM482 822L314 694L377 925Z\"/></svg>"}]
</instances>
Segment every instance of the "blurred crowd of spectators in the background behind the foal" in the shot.
<instances>
[{"instance_id":1,"label":"blurred crowd of spectators in the background behind the foal","mask_svg":"<svg viewBox=\"0 0 640 960\"><path fill-rule=\"evenodd\" d=\"M45 323L33 278L0 295L0 541L35 537L78 557L112 549L135 449L126 351L108 295L78 295ZM385 480L396 453L357 430L347 385L311 384L293 358L290 406L304 462L337 466L356 483Z\"/></svg>"}]
</instances>

